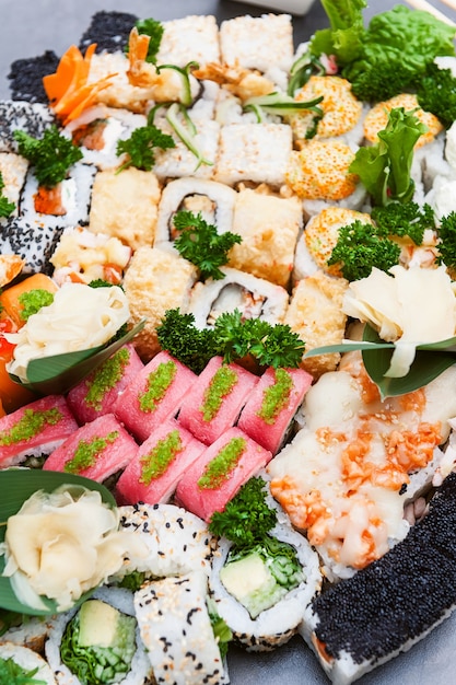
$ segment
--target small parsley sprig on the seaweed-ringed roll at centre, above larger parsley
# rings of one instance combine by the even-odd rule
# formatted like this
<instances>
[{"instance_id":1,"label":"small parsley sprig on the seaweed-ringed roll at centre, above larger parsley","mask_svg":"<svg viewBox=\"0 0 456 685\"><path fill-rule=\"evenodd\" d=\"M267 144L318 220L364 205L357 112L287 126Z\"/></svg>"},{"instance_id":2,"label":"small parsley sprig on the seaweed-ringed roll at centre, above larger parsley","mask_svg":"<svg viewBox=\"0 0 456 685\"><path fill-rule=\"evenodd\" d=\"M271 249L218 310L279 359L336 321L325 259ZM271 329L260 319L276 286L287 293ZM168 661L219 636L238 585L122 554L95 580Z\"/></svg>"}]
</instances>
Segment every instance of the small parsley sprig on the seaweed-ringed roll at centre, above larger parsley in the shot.
<instances>
[{"instance_id":1,"label":"small parsley sprig on the seaweed-ringed roll at centre, above larger parsley","mask_svg":"<svg viewBox=\"0 0 456 685\"><path fill-rule=\"evenodd\" d=\"M174 227L180 231L174 246L182 257L200 269L201 278L224 278L220 267L227 263L227 253L233 245L242 242L241 235L230 231L219 234L217 227L204 221L200 212L178 211Z\"/></svg>"}]
</instances>

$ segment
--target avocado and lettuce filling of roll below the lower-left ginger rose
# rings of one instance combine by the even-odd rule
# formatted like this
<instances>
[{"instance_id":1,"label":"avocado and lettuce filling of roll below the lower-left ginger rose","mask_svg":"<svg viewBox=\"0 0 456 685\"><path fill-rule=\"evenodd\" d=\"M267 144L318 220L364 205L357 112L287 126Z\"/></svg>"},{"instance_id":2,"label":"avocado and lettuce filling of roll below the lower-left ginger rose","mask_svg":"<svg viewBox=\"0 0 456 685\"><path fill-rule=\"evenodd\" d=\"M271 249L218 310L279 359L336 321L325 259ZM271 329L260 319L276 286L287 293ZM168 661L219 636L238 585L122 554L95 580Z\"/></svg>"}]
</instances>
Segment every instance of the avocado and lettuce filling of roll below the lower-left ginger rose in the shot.
<instances>
[{"instance_id":1,"label":"avocado and lettuce filling of roll below the lower-left ginger rose","mask_svg":"<svg viewBox=\"0 0 456 685\"><path fill-rule=\"evenodd\" d=\"M100 600L87 600L68 624L62 662L83 685L119 683L136 652L136 619Z\"/></svg>"}]
</instances>

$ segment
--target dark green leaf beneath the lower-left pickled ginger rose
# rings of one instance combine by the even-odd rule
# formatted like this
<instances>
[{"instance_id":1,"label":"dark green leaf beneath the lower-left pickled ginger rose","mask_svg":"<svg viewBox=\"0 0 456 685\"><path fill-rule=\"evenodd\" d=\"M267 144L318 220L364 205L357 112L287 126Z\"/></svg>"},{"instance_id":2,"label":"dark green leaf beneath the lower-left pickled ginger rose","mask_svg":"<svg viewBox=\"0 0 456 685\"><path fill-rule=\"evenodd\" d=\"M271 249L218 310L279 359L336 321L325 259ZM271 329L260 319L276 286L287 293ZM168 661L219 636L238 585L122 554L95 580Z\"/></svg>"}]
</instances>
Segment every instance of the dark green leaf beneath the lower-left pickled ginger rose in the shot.
<instances>
[{"instance_id":1,"label":"dark green leaf beneath the lower-left pickled ginger rose","mask_svg":"<svg viewBox=\"0 0 456 685\"><path fill-rule=\"evenodd\" d=\"M74 474L63 474L52 471L38 471L27 468L7 468L0 471L0 543L3 543L7 532L8 519L21 509L22 504L37 490L52 492L62 485L69 488L86 488L97 490L103 501L108 507L115 508L116 501L107 488L95 480L83 478ZM15 595L11 581L3 577L4 556L0 556L0 607L19 614L43 616L57 613L56 603L47 597L43 597L46 609L39 611L23 604ZM91 592L84 593L78 603L82 603L90 596Z\"/></svg>"}]
</instances>

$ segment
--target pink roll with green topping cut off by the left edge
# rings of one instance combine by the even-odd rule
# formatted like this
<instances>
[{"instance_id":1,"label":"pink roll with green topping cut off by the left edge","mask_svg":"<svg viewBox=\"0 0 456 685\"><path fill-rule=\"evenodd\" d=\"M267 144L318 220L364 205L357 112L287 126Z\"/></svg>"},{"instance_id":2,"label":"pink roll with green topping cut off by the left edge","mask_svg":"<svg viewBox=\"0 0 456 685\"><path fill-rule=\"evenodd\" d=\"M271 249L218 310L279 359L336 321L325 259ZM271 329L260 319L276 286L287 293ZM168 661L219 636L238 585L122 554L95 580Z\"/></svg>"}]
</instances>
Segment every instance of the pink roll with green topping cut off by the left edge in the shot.
<instances>
[{"instance_id":1,"label":"pink roll with green topping cut off by the left edge","mask_svg":"<svg viewBox=\"0 0 456 685\"><path fill-rule=\"evenodd\" d=\"M77 429L63 395L36 399L0 419L0 467L49 454Z\"/></svg>"}]
</instances>

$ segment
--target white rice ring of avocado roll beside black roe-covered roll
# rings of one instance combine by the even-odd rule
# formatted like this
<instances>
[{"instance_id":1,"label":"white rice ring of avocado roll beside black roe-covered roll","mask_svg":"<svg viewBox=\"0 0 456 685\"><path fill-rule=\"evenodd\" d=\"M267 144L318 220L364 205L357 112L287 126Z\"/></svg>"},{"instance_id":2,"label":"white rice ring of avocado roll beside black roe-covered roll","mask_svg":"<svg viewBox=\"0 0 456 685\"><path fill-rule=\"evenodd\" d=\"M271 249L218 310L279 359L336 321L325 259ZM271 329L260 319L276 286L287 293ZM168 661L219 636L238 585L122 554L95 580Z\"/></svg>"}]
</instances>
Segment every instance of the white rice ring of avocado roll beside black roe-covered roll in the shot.
<instances>
[{"instance_id":1,"label":"white rice ring of avocado roll beside black roe-covered roll","mask_svg":"<svg viewBox=\"0 0 456 685\"><path fill-rule=\"evenodd\" d=\"M268 504L271 506L272 498ZM270 608L266 608L252 618L249 612L227 592L220 579L220 571L225 565L232 543L220 539L220 554L214 556L209 585L218 614L225 620L233 632L233 639L247 651L270 651L288 642L297 630L304 611L321 587L321 571L317 553L307 539L292 529L287 515L278 510L278 523L271 530L271 537L288 543L295 548L303 568L303 580L290 590Z\"/></svg>"}]
</instances>

